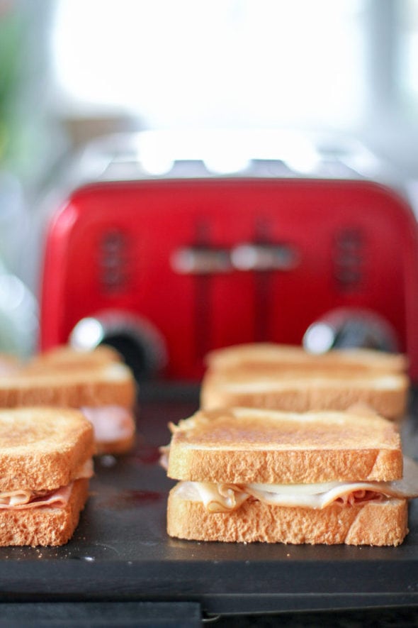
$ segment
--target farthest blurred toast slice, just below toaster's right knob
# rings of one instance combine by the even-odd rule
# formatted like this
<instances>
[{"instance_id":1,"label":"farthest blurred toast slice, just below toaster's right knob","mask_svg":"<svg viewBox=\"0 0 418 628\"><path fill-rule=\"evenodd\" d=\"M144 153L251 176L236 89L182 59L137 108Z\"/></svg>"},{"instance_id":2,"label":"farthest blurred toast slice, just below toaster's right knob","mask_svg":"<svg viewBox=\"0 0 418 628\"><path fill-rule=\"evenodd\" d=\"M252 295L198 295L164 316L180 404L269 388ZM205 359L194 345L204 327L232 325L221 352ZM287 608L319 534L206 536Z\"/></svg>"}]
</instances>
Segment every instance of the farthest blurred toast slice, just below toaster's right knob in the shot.
<instances>
[{"instance_id":1,"label":"farthest blurred toast slice, just below toaster's right knob","mask_svg":"<svg viewBox=\"0 0 418 628\"><path fill-rule=\"evenodd\" d=\"M405 373L408 360L402 353L385 353L366 348L332 349L308 353L302 346L276 343L247 343L211 351L206 365L217 373L239 368L262 373L286 369L331 370L340 372L377 371Z\"/></svg>"}]
</instances>

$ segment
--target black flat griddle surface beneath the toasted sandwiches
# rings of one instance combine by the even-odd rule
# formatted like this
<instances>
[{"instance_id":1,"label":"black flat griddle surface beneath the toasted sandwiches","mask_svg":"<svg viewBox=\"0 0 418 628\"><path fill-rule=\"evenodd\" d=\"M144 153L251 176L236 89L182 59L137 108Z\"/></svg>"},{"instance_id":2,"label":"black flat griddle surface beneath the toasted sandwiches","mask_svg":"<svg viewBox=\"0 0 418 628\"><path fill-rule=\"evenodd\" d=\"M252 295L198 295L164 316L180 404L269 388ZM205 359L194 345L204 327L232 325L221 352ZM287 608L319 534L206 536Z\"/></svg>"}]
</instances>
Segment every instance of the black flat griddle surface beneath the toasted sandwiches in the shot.
<instances>
[{"instance_id":1,"label":"black flat griddle surface beneath the toasted sandwiches","mask_svg":"<svg viewBox=\"0 0 418 628\"><path fill-rule=\"evenodd\" d=\"M414 398L402 438L405 453L417 457ZM85 617L86 607L101 605L115 625L142 625L142 618L143 625L179 627L200 625L201 615L418 606L418 500L410 505L409 535L397 548L170 539L166 497L174 482L159 466L158 447L169 442L167 423L197 407L194 390L142 395L135 449L97 458L72 540L59 548L0 548L0 626L9 617L2 609L11 605L13 616L16 605L30 612L40 602L43 614L71 602L78 625L77 609ZM121 604L135 623L121 621ZM156 612L166 623L147 623ZM69 622L68 612L65 617Z\"/></svg>"}]
</instances>

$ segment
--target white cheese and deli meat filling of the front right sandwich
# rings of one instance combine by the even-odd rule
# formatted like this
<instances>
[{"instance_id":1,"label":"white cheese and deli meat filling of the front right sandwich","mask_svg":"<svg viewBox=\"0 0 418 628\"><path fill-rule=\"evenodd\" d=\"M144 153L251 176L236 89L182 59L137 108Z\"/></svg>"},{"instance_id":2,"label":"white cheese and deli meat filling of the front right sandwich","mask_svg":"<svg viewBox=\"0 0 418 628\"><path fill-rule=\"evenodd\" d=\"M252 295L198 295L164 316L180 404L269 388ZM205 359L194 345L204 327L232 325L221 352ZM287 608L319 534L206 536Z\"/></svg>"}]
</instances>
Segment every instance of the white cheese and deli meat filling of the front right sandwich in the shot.
<instances>
[{"instance_id":1,"label":"white cheese and deli meat filling of the front right sandwich","mask_svg":"<svg viewBox=\"0 0 418 628\"><path fill-rule=\"evenodd\" d=\"M199 501L208 512L236 510L250 497L265 504L322 509L337 502L362 504L390 498L418 497L418 465L404 461L402 480L393 482L327 482L320 484L212 484L181 482L177 494L185 500Z\"/></svg>"}]
</instances>

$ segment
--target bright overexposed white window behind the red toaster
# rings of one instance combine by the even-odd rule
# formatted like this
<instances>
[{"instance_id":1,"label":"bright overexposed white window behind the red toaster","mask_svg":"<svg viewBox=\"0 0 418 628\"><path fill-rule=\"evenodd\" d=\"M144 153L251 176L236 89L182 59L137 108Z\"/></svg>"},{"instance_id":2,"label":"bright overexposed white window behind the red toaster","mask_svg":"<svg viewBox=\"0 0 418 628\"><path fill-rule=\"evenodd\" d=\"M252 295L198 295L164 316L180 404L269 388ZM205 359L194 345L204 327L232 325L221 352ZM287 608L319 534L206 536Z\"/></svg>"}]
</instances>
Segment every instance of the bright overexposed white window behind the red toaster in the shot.
<instances>
[{"instance_id":1,"label":"bright overexposed white window behind the red toaster","mask_svg":"<svg viewBox=\"0 0 418 628\"><path fill-rule=\"evenodd\" d=\"M60 0L64 109L148 128L352 128L365 107L360 0Z\"/></svg>"}]
</instances>

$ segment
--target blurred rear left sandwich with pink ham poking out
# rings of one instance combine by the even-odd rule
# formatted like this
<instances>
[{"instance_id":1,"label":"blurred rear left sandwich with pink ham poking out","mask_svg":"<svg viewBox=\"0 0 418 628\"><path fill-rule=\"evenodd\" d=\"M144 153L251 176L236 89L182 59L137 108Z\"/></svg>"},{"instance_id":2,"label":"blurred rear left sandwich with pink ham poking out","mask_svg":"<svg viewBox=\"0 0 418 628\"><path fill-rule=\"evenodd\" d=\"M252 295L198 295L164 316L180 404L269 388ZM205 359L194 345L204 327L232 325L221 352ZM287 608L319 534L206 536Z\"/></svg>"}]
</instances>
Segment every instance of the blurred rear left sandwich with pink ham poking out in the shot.
<instances>
[{"instance_id":1,"label":"blurred rear left sandwich with pink ham poking out","mask_svg":"<svg viewBox=\"0 0 418 628\"><path fill-rule=\"evenodd\" d=\"M94 426L97 453L125 453L135 440L135 378L111 347L60 346L0 376L0 408L81 409Z\"/></svg>"}]
</instances>

